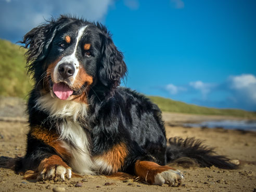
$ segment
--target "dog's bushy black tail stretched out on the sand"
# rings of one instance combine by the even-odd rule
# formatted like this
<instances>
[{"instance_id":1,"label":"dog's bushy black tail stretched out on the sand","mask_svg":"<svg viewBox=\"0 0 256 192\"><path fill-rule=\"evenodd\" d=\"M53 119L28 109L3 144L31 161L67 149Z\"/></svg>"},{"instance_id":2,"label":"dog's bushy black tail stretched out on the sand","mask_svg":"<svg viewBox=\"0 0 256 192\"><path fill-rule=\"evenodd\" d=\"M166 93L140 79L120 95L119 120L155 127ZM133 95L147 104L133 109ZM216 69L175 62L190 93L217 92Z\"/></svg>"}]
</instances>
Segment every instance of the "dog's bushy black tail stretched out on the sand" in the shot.
<instances>
[{"instance_id":1,"label":"dog's bushy black tail stretched out on the sand","mask_svg":"<svg viewBox=\"0 0 256 192\"><path fill-rule=\"evenodd\" d=\"M214 148L202 144L199 139L172 137L168 140L167 162L177 163L184 167L199 165L211 167L214 165L222 169L236 169L237 165L229 162L226 156L216 155Z\"/></svg>"}]
</instances>

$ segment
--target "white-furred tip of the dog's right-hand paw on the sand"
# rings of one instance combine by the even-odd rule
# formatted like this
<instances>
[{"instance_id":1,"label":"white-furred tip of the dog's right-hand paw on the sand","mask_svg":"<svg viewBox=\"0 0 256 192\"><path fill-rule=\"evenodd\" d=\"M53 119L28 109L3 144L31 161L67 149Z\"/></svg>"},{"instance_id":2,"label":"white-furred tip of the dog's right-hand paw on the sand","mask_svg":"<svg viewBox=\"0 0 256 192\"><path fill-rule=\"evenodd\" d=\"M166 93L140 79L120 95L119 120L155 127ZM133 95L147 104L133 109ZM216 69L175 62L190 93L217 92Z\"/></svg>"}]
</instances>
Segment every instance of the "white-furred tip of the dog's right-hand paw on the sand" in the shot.
<instances>
[{"instance_id":1,"label":"white-furred tip of the dog's right-hand paw on the sand","mask_svg":"<svg viewBox=\"0 0 256 192\"><path fill-rule=\"evenodd\" d=\"M179 170L169 169L155 175L155 181L153 185L162 185L164 183L169 184L171 187L180 186L184 179L184 175Z\"/></svg>"}]
</instances>

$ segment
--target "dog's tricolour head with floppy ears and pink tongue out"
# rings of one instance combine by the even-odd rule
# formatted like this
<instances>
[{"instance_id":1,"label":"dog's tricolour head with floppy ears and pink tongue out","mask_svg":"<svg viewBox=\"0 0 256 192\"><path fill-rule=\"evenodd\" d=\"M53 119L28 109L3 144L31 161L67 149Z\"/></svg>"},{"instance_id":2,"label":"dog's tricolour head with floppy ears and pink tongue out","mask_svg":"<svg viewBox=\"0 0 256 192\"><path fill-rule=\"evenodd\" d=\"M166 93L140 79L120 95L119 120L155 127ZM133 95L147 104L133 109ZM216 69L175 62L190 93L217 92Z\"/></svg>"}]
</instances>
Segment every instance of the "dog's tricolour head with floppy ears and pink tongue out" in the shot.
<instances>
[{"instance_id":1,"label":"dog's tricolour head with floppy ears and pink tongue out","mask_svg":"<svg viewBox=\"0 0 256 192\"><path fill-rule=\"evenodd\" d=\"M126 72L107 29L61 16L28 32L21 43L36 89L62 100L82 99L94 86L111 91Z\"/></svg>"}]
</instances>

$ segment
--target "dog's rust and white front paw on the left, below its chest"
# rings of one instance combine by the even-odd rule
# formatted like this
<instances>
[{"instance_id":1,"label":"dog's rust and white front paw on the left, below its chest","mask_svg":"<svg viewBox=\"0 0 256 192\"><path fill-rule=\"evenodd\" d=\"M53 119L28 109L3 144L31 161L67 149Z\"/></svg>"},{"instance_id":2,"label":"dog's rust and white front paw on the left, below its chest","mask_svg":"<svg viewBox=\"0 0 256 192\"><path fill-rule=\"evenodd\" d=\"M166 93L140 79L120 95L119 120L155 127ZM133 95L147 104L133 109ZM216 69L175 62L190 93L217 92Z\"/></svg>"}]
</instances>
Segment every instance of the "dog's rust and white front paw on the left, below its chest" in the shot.
<instances>
[{"instance_id":1,"label":"dog's rust and white front paw on the left, below its chest","mask_svg":"<svg viewBox=\"0 0 256 192\"><path fill-rule=\"evenodd\" d=\"M54 155L41 161L38 168L37 181L58 178L64 181L65 178L70 179L71 175L71 168L59 156Z\"/></svg>"}]
</instances>

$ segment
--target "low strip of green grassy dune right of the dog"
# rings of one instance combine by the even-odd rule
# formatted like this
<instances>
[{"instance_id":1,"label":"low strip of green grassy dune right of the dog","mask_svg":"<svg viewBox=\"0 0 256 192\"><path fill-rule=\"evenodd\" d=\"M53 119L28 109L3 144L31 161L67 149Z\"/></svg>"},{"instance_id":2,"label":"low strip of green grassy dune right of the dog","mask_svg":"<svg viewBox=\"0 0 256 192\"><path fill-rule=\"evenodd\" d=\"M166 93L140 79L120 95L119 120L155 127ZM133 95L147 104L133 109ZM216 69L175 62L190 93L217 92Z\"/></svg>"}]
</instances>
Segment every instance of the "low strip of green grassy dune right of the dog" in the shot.
<instances>
[{"instance_id":1,"label":"low strip of green grassy dune right of the dog","mask_svg":"<svg viewBox=\"0 0 256 192\"><path fill-rule=\"evenodd\" d=\"M190 105L181 101L175 101L157 96L148 96L153 103L157 104L162 111L178 112L178 113L193 113L193 114L208 114L218 116L234 116L244 118L256 118L256 112L245 111L241 109L216 109Z\"/></svg>"}]
</instances>

